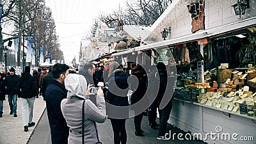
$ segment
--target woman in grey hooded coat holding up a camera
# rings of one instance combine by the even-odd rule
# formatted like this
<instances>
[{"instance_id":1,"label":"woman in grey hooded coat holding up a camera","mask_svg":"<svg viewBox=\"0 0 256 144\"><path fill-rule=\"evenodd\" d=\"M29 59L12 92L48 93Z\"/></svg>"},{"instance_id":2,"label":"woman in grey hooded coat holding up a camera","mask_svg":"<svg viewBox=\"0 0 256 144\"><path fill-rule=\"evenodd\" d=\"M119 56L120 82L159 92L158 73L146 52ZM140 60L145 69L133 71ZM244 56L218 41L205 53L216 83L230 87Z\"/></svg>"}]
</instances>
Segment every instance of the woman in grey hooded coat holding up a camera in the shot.
<instances>
[{"instance_id":1,"label":"woman in grey hooded coat holding up a camera","mask_svg":"<svg viewBox=\"0 0 256 144\"><path fill-rule=\"evenodd\" d=\"M104 94L99 90L97 105L93 104L86 95L90 93L90 86L86 88L86 79L78 74L68 74L65 79L65 88L68 90L67 99L61 101L61 111L69 127L68 143L82 143L82 129L84 129L84 143L98 142L95 122L103 123L106 120L106 106ZM82 108L84 103L84 127L82 127Z\"/></svg>"}]
</instances>

